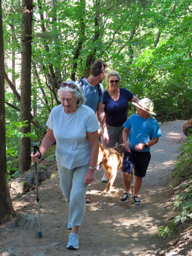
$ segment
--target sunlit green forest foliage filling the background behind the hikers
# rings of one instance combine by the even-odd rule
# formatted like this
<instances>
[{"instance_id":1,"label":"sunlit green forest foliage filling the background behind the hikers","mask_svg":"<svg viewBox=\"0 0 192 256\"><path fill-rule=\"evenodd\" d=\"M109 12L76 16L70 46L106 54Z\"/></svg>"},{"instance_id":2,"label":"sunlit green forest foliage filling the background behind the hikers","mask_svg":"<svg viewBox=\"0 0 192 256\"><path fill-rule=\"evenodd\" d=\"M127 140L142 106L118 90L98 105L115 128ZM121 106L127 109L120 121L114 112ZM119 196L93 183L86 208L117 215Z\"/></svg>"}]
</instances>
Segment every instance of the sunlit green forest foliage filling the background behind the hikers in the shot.
<instances>
[{"instance_id":1,"label":"sunlit green forest foliage filling the background behind the hikers","mask_svg":"<svg viewBox=\"0 0 192 256\"><path fill-rule=\"evenodd\" d=\"M3 0L2 11L9 157L18 155L17 140L23 136L18 100L22 12L33 14L32 139L42 140L48 115L59 104L60 83L89 76L97 58L108 65L107 71L120 74L121 87L154 101L158 121L191 118L191 0L34 0L33 9L22 9L21 1Z\"/></svg>"}]
</instances>

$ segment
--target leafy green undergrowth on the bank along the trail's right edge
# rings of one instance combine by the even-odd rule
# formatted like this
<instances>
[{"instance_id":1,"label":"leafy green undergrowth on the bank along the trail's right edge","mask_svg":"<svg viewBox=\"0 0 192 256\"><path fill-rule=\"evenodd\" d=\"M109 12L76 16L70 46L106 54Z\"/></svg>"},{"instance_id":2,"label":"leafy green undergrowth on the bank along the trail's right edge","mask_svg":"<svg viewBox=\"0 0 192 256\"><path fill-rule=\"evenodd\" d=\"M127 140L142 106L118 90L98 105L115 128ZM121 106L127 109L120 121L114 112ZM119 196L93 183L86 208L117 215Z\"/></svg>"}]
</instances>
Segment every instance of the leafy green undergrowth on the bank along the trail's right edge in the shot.
<instances>
[{"instance_id":1,"label":"leafy green undergrowth on the bank along the trail's right edge","mask_svg":"<svg viewBox=\"0 0 192 256\"><path fill-rule=\"evenodd\" d=\"M175 178L170 187L176 191L175 200L172 204L177 215L166 227L158 228L158 236L176 237L178 230L183 232L190 230L192 225L192 135L186 138L182 153L178 157L172 177ZM186 222L186 225L183 223ZM179 232L179 233L180 233Z\"/></svg>"}]
</instances>

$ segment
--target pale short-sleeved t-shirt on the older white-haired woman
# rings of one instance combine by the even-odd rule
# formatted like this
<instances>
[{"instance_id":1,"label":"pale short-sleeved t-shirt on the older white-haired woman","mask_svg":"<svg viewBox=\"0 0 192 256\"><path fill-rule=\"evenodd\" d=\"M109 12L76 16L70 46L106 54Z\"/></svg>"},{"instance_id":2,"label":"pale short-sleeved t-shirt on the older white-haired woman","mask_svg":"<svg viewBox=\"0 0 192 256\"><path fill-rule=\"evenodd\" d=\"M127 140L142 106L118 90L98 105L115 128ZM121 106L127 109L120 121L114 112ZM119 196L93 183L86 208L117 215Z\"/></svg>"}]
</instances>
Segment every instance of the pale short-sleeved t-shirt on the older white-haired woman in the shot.
<instances>
[{"instance_id":1,"label":"pale short-sleeved t-shirt on the older white-haired woman","mask_svg":"<svg viewBox=\"0 0 192 256\"><path fill-rule=\"evenodd\" d=\"M56 160L73 169L89 164L91 148L87 132L95 132L100 127L94 111L81 105L72 114L65 113L58 105L51 110L47 124L53 130L56 139Z\"/></svg>"}]
</instances>

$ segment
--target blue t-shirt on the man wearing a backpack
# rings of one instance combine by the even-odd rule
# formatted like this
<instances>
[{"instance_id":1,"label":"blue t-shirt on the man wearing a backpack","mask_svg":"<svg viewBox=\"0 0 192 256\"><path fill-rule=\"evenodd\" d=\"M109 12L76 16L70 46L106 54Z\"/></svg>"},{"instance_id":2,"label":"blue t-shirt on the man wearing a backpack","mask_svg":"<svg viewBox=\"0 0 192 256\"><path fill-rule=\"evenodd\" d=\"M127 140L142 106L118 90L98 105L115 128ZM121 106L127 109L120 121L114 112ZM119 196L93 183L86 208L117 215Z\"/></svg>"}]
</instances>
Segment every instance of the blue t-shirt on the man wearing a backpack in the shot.
<instances>
[{"instance_id":1,"label":"blue t-shirt on the man wearing a backpack","mask_svg":"<svg viewBox=\"0 0 192 256\"><path fill-rule=\"evenodd\" d=\"M75 83L79 87L79 82L77 81ZM83 93L86 98L85 105L90 107L94 112L96 112L98 103L103 101L104 89L103 89L102 83L100 83L100 86L101 86L101 95L99 96L97 85L92 86L87 82L85 78L83 78Z\"/></svg>"}]
</instances>

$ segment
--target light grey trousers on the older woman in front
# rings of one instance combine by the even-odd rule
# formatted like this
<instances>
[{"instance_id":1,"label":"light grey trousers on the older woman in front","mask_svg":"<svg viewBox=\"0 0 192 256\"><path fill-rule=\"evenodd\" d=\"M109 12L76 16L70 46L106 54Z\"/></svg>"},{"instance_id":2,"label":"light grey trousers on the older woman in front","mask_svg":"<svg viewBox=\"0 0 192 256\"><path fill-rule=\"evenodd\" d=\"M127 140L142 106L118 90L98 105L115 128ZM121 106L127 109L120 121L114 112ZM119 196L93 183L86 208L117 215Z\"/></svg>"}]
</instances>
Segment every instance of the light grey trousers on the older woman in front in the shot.
<instances>
[{"instance_id":1,"label":"light grey trousers on the older woman in front","mask_svg":"<svg viewBox=\"0 0 192 256\"><path fill-rule=\"evenodd\" d=\"M69 207L69 224L81 226L85 214L85 196L88 185L84 184L84 176L89 165L67 169L57 163L60 186Z\"/></svg>"}]
</instances>

